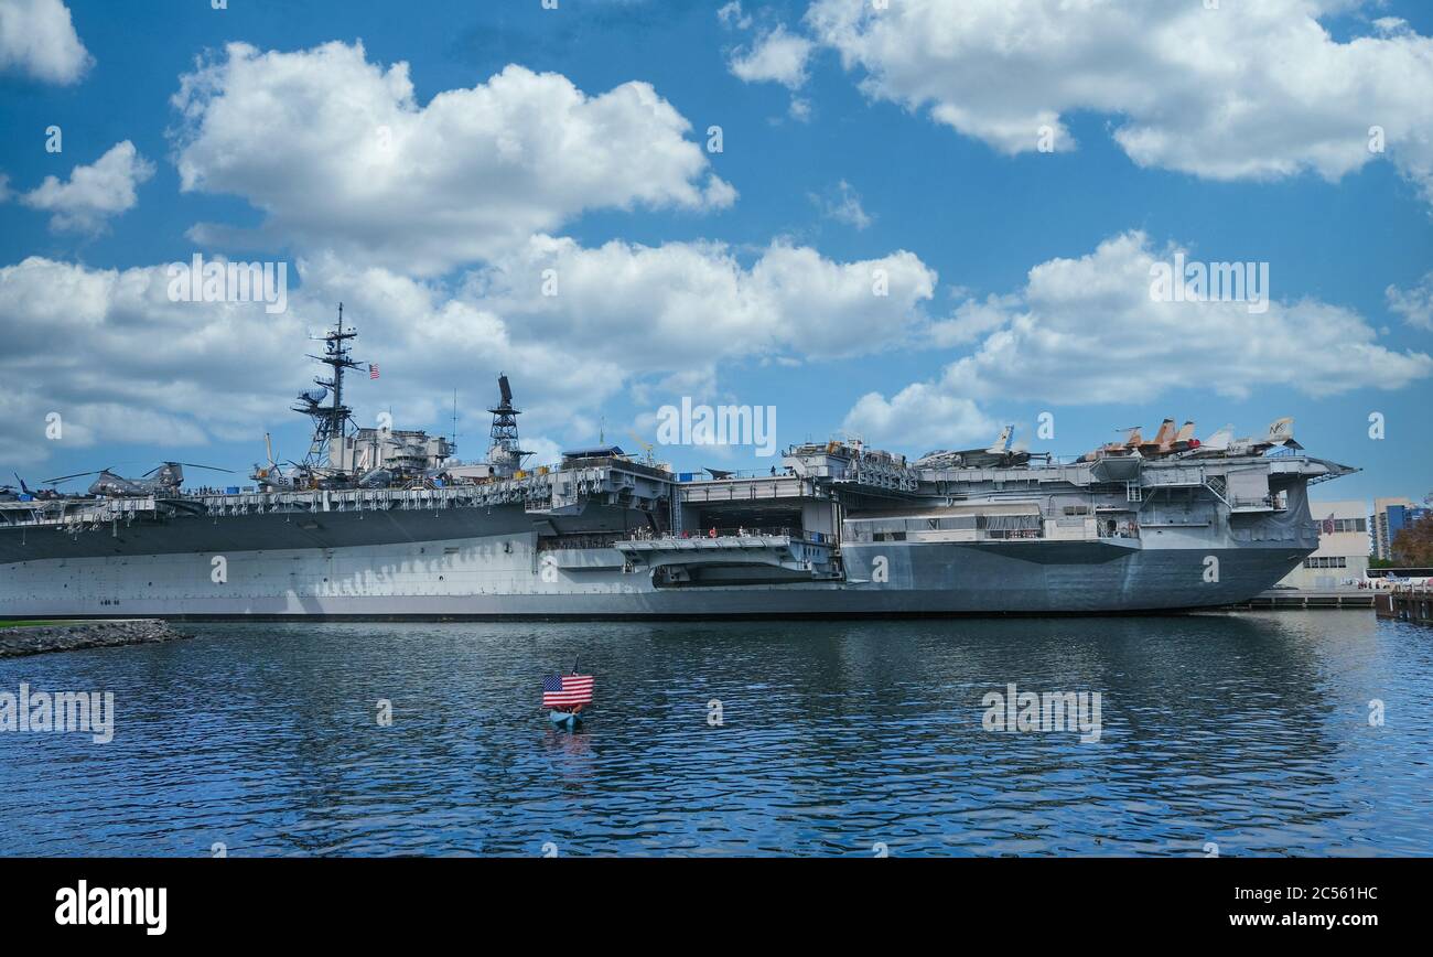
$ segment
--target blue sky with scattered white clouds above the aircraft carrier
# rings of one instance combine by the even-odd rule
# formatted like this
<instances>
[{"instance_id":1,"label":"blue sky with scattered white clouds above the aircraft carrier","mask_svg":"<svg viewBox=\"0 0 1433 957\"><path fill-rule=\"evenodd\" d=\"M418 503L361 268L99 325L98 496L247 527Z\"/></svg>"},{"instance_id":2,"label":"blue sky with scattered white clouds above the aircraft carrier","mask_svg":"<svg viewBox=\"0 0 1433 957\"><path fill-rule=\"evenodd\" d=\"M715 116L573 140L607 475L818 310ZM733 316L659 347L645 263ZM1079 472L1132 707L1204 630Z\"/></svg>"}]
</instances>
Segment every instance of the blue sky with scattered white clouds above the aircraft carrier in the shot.
<instances>
[{"instance_id":1,"label":"blue sky with scattered white clouds above the aircraft carrier","mask_svg":"<svg viewBox=\"0 0 1433 957\"><path fill-rule=\"evenodd\" d=\"M23 7L21 13L44 6L0 0L0 7L7 3ZM962 50L995 49L1007 39L1000 30L1009 27L974 21L952 36L920 30L929 39L926 49L900 43L900 29L914 37L919 20L860 20L853 33L841 20L848 11L835 9L834 0L745 3L721 17L724 4L656 0L562 0L557 10L542 9L539 0L413 6L231 0L226 10L198 0L69 0L66 6L87 67L69 82L44 79L39 67L14 57L0 69L0 173L11 192L0 203L0 268L30 256L50 264L43 278L50 285L27 287L23 295L14 291L19 274L0 274L0 331L23 345L0 357L3 391L11 397L9 421L0 427L6 474L20 470L33 483L103 466L142 471L160 458L248 468L262 454L265 431L274 433L284 457L297 457L305 423L287 411L287 397L307 385L307 370L297 360L285 365L282 355L301 357L308 348L302 331L331 318L321 304L342 297L360 325L360 357L378 361L384 371L377 383L355 384L360 421L391 407L400 427L446 433L457 388L464 457L481 454L486 444L481 408L494 391L492 377L502 370L529 410L527 434L542 440L537 447L543 450L592 443L603 420L609 440L632 446L629 428L651 438L656 407L682 395L775 405L782 443L853 430L871 444L913 454L937 446L983 446L995 437L992 425L1006 421L1016 423L1035 448L1076 454L1112 440L1119 427L1144 424L1149 434L1165 415L1195 420L1201 436L1225 423L1237 424L1238 434L1261 434L1271 420L1294 415L1298 438L1313 454L1364 470L1320 489L1320 497L1420 499L1433 489L1426 420L1433 331L1424 278L1433 271L1427 179L1433 162L1426 152L1433 126L1426 106L1419 106L1433 102L1427 40L1433 10L1426 4L1314 4L1330 7L1320 19L1328 46L1320 49L1333 53L1324 62L1291 46L1288 56L1300 66L1290 69L1307 73L1298 89L1328 80L1331 92L1303 99L1270 89L1270 77L1250 66L1262 59L1255 56L1260 52L1277 60L1284 46L1294 44L1270 26L1297 19L1291 3L1270 3L1277 21L1251 19L1231 27L1228 20L1244 14L1214 14L1225 21L1209 27L1218 42L1211 49L1221 56L1234 50L1218 76L1237 89L1240 100L1252 102L1252 112L1262 110L1237 136L1228 133L1228 142L1219 140L1224 130L1204 129L1211 116L1218 122L1219 95L1191 93L1209 86L1198 72L1202 67L1181 73L1176 56L1146 56L1159 46L1159 19L1175 17L1159 11L1171 4L1131 4L1139 13L1129 20L1144 36L1126 40L1123 53L1108 32L1096 43L1058 23L1043 4L1015 4L1026 9L1026 27L1056 27L1053 39L1035 50L1035 67L993 63L982 67L979 85L950 64L970 60ZM936 9L933 16L940 13ZM1178 16L1194 14L1181 10ZM1197 37L1202 23L1178 30ZM1248 60L1241 60L1242 47L1228 43L1221 30L1235 30L1230 36L1248 43ZM1260 39L1261 30L1267 39ZM782 73L781 63L770 60L765 76L757 67L739 76L738 64L772 36L798 39L800 66ZM883 37L891 43L880 43ZM201 69L201 57L222 67L229 60L225 44L234 42L254 47L259 64L246 79L222 69L209 77L218 89L191 103L212 123L201 126L171 97L181 90L182 76ZM679 117L675 133L668 125L655 135L668 138L668 145L675 136L701 148L708 126L719 125L724 149L696 149L666 166L653 165L643 179L663 185L652 199L642 182L631 182L620 158L609 172L596 169L596 160L586 163L580 149L545 155L533 148L523 155L546 156L547 172L537 176L546 178L539 182L550 193L533 203L536 228L523 226L523 235L513 236L494 234L490 241L477 235L487 222L481 211L464 211L464 203L476 208L517 196L522 205L529 181L503 182L502 166L474 172L483 182L471 183L471 191L466 181L453 189L454 181L434 179L427 186L447 193L434 209L441 212L450 202L459 219L451 226L454 242L443 245L474 244L437 262L410 259L403 254L411 245L403 236L410 234L398 234L423 235L424 222L441 219L426 212L398 225L410 193L424 186L421 175L387 193L363 183L335 186L331 198L312 198L301 215L289 218L274 216L269 208L265 226L265 205L274 206L275 198L304 205L292 198L307 201L322 191L331 169L315 156L342 156L351 149L344 139L332 142L331 150L321 142L298 146L295 140L310 130L317 139L342 129L344 119L325 113L321 123L302 116L304 109L320 107L305 106L292 86L284 86L289 99L274 103L272 125L259 113L264 122L219 136L216 103L236 99L241 83L254 92L262 83L288 82L275 79L278 67L264 73L265 53L297 56L332 42L347 47L361 42L354 62L371 66L375 76L407 63L410 112L426 109L444 92L473 90L519 64L560 74L588 97L633 80L649 85ZM1369 59L1343 63L1340 57L1354 50ZM1046 74L1039 67L1046 60L1060 63L1059 72ZM6 64L3 53L0 64ZM335 102L350 89L347 74L335 67L337 76L320 76L324 64L308 57L292 64L295 70L312 67L318 79L298 82L312 83L327 109L341 112ZM353 63L344 69L354 69ZM1340 92L1336 80L1350 69L1367 80L1366 90ZM1099 93L1085 93L1091 89ZM513 109L535 112L526 100ZM1022 120L1040 109L1053 110L1062 123L1060 149L1053 153L1023 146L1026 133L1033 142L1036 132ZM546 122L540 100L536 113L533 129L540 129ZM461 120L454 123L461 126ZM1331 123L1347 126L1350 140L1360 140L1369 125L1386 126L1387 153L1367 160L1356 150L1340 153L1328 143ZM63 130L60 153L44 149L52 125ZM1012 126L1016 132L1006 132ZM1131 126L1148 128L1145 146L1116 139L1118 130ZM464 139L469 133L453 129L418 143L403 162L489 142L477 133ZM639 123L631 133L638 138L633 142L646 132ZM514 133L519 150L526 149L524 135ZM1179 145L1181 136L1188 142ZM1078 146L1066 149L1070 139ZM54 216L63 206L56 202L67 199L49 205L24 199L46 176L64 183L76 166L95 165L126 140L136 162L152 168L152 175L133 178L129 208L92 213L87 225L57 226ZM186 149L199 170L188 189L179 170ZM1331 153L1338 156L1330 159ZM269 166L265 156L278 160ZM438 159L461 170L466 156ZM304 163L314 163L312 170L305 173ZM310 185L299 191L264 179L291 173ZM714 178L735 196L694 199ZM573 186L553 185L555 179ZM691 196L684 193L688 186ZM850 205L840 212L848 199L860 215ZM467 213L471 219L464 219ZM196 223L258 228L259 235L196 232ZM390 223L400 238L375 238ZM434 226L440 241L446 228ZM520 285L513 276L526 275L523 269L537 262L519 252L527 234L570 241L575 252L562 259L559 276L570 275L566 271L577 259L605 244L619 248L603 262L589 264L593 274L613 262L653 272L632 288L569 285L562 307L569 311L553 314L513 288ZM1096 255L1101 244L1121 236L1125 241L1108 255ZM808 251L821 265L802 265L792 278L795 266L777 262L774 244ZM1231 322L1227 304L1217 312L1176 314L1169 304L1142 305L1138 294L1082 292L1121 264L1134 262L1131 275L1139 275L1141 256L1162 258L1171 244L1191 259L1268 262L1275 308ZM638 265L632 252L638 248L672 258L682 252L692 262L666 271L652 256ZM863 301L850 299L850 282L840 291L820 287L834 269L878 264L901 251L923 268L916 278L934 276L929 295L893 291L893 302L866 318ZM302 287L312 298L299 294L282 322L245 315L242 322L209 317L176 325L163 309L146 312L142 302L105 291L93 295L115 297L107 305L85 301L95 308L93 318L75 319L64 305L66 295L77 295L64 276L145 271L196 252L281 259L294 264L295 272L299 261L330 259L321 279L305 272ZM1052 268L1042 274L1048 282L1030 279L1042 264L1082 259L1083 272ZM712 292L721 284L692 281L684 287L685 298L666 301L663 321L646 314L653 297L675 295L674 284L686 282L695 271L725 275L732 268L732 302L749 309L732 330L704 319L704 309L716 315L725 308ZM850 271L864 275L867 268ZM56 284L63 288L44 295ZM299 285L297 278L294 285ZM378 304L396 302L383 297L397 297L397 287L431 294L431 308L414 305L414 318L383 312ZM1390 287L1406 304L1403 311L1393 308ZM986 304L987 297L1005 297L997 315L952 325L963 315L957 312L963 304L970 315L970 307ZM1105 299L1118 317L1108 322ZM411 305L411 297L404 301ZM453 325L434 319L446 331L423 332L421 317L443 312L444 304ZM56 311L62 315L52 315ZM598 318L589 322L588 317ZM768 341L764 324L782 331ZM708 351L704 325L711 330ZM469 337L466 330L481 332ZM1010 345L992 341L1007 330L1023 331ZM487 348L484 334L507 345ZM752 342L732 344L742 335ZM203 340L192 352L186 351L191 337ZM461 341L446 345L453 337ZM1241 338L1248 348L1241 348ZM1241 352L1257 358L1242 367ZM970 357L976 360L957 365ZM913 385L921 388L897 403ZM863 403L871 394L878 398ZM44 440L44 413L52 410L76 425L70 438ZM1055 414L1050 441L1033 436L1042 411ZM1381 441L1369 437L1371 413L1384 415ZM663 451L663 458L684 470L770 464L745 450Z\"/></svg>"}]
</instances>

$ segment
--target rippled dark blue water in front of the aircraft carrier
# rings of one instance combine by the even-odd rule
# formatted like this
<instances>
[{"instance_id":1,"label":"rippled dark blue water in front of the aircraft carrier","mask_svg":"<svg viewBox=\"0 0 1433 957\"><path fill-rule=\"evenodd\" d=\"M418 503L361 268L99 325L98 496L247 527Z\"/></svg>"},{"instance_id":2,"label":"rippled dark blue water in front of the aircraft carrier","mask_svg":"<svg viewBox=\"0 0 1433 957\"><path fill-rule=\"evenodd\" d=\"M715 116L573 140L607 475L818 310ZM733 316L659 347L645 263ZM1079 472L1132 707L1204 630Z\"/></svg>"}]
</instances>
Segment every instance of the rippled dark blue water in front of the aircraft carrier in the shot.
<instances>
[{"instance_id":1,"label":"rippled dark blue water in front of the aircraft carrier","mask_svg":"<svg viewBox=\"0 0 1433 957\"><path fill-rule=\"evenodd\" d=\"M0 854L1433 850L1433 629L1370 612L186 627L0 662L118 711L0 734ZM579 652L570 734L536 702ZM1101 692L1101 741L983 731L1007 682Z\"/></svg>"}]
</instances>

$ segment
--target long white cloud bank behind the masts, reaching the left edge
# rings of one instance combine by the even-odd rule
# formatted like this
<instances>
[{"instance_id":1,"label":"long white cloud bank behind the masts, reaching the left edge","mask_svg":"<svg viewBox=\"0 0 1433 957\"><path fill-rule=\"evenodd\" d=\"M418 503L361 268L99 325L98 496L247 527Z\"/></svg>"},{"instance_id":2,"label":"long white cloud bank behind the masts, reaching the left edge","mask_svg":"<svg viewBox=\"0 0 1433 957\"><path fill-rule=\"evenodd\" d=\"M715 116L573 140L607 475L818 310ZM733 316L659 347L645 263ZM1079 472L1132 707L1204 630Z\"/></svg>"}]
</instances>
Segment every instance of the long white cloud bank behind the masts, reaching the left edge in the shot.
<instances>
[{"instance_id":1,"label":"long white cloud bank behind the masts, reaching the left edge","mask_svg":"<svg viewBox=\"0 0 1433 957\"><path fill-rule=\"evenodd\" d=\"M557 269L556 297L542 294L547 268ZM871 294L877 269L887 297ZM486 434L481 410L506 371L532 434L589 441L579 423L623 388L669 401L674 388L714 388L721 362L893 345L923 321L936 282L909 252L838 264L772 245L748 268L721 245L585 249L550 236L456 287L332 254L298 272L288 311L267 315L262 305L171 302L163 265L92 269L36 256L0 268L0 381L20 384L0 394L0 461L54 450L49 411L62 413L66 446L245 438L257 450L264 431L294 418L288 400L312 377L305 335L332 321L340 299L361 332L355 355L383 368L345 393L360 421L391 405L400 423L446 424L459 387L463 433ZM464 440L464 456L483 451L483 438Z\"/></svg>"}]
</instances>

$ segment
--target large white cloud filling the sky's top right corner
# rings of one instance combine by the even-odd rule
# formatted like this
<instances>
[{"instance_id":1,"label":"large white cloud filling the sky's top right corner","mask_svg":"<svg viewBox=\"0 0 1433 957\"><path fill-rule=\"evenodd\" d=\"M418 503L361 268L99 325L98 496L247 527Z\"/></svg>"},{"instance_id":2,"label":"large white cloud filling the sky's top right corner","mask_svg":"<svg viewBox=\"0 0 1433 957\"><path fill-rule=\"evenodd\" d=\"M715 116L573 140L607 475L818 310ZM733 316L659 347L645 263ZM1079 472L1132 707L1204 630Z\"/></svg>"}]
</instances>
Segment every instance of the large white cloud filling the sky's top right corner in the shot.
<instances>
[{"instance_id":1,"label":"large white cloud filling the sky's top right corner","mask_svg":"<svg viewBox=\"0 0 1433 957\"><path fill-rule=\"evenodd\" d=\"M1073 142L1062 119L1111 113L1141 166L1209 179L1314 170L1336 181L1387 155L1433 201L1433 39L1380 21L1336 42L1317 17L1346 0L1098 3L814 0L807 24L864 72L873 97L929 107L1006 153Z\"/></svg>"}]
</instances>

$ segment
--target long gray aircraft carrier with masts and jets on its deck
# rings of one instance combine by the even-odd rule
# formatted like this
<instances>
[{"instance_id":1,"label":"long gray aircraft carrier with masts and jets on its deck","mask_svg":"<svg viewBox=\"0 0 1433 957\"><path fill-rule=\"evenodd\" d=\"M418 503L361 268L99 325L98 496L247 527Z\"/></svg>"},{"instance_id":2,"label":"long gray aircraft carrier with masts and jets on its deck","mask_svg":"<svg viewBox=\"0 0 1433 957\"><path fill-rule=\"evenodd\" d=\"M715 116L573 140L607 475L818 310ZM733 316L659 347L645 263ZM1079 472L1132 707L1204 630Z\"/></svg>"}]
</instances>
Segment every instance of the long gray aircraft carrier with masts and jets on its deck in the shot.
<instances>
[{"instance_id":1,"label":"long gray aircraft carrier with masts and jets on its deck","mask_svg":"<svg viewBox=\"0 0 1433 957\"><path fill-rule=\"evenodd\" d=\"M0 619L598 619L1050 615L1248 600L1318 544L1305 491L1354 471L1280 420L1204 440L1165 420L1075 461L995 446L903 456L837 440L764 474L674 473L616 446L524 468L507 378L486 461L360 428L354 331L295 411L302 463L248 487L99 473L0 500Z\"/></svg>"}]
</instances>

